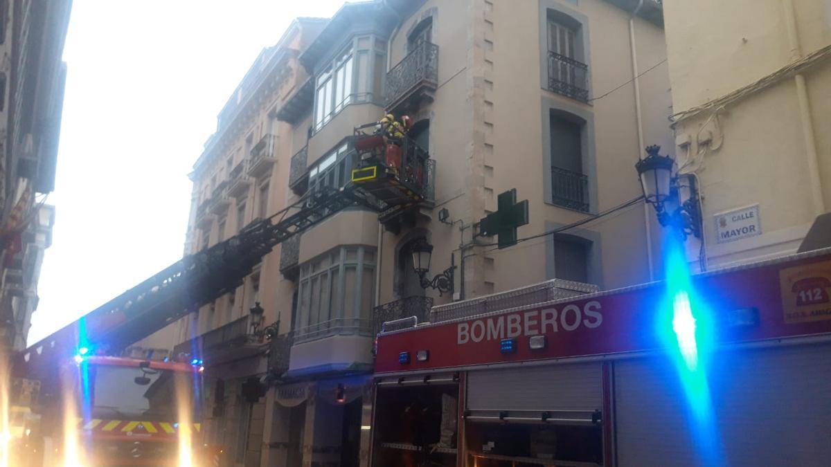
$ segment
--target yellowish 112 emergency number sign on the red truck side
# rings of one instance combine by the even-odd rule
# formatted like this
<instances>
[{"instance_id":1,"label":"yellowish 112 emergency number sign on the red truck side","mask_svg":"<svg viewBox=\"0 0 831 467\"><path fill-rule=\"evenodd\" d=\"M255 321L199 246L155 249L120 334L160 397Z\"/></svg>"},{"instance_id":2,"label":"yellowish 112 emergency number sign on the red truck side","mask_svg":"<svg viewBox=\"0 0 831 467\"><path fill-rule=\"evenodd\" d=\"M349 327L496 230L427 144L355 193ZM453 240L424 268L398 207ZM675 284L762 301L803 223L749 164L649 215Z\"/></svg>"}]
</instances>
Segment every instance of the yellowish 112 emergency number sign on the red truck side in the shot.
<instances>
[{"instance_id":1,"label":"yellowish 112 emergency number sign on the red truck side","mask_svg":"<svg viewBox=\"0 0 831 467\"><path fill-rule=\"evenodd\" d=\"M831 261L779 272L784 321L811 322L831 319Z\"/></svg>"}]
</instances>

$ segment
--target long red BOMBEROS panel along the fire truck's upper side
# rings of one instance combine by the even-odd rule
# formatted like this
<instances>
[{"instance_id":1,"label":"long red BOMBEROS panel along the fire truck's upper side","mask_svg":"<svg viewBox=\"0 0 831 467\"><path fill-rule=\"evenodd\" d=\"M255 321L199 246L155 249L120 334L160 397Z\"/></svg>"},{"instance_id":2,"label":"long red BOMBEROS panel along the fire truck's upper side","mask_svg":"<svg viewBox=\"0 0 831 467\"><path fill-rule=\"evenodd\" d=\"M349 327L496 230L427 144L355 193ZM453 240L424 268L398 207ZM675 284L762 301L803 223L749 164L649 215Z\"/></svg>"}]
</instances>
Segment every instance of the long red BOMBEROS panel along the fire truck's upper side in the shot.
<instances>
[{"instance_id":1,"label":"long red BOMBEROS panel along the fire truck's upper side","mask_svg":"<svg viewBox=\"0 0 831 467\"><path fill-rule=\"evenodd\" d=\"M831 333L831 254L710 273L692 283L713 313L720 343ZM661 308L664 293L655 283L382 334L376 373L660 351L656 323L661 313L671 313ZM758 320L730 319L731 312L747 309L758 312ZM530 348L535 336L545 336L544 347ZM514 339L515 351L500 351L503 339ZM427 351L429 358L402 363L402 351Z\"/></svg>"}]
</instances>

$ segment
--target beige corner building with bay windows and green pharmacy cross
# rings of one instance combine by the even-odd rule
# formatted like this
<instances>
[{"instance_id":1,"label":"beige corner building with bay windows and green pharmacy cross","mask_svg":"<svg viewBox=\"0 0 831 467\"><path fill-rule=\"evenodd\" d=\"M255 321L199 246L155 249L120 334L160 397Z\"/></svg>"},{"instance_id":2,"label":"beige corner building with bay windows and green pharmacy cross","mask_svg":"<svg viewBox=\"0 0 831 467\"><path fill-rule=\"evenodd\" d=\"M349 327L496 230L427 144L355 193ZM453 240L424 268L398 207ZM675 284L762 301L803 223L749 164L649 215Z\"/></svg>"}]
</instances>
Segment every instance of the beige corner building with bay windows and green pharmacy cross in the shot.
<instances>
[{"instance_id":1,"label":"beige corner building with bay windows and green pharmacy cross","mask_svg":"<svg viewBox=\"0 0 831 467\"><path fill-rule=\"evenodd\" d=\"M296 253L284 246L293 345L268 394L263 460L366 462L381 322L553 278L616 288L653 277L661 232L642 205L504 250L476 225L509 189L529 200L520 238L639 196L628 174L644 142L672 143L661 9L648 3L359 2L302 52L313 96L281 117L294 128L289 204L347 184L349 136L386 113L411 117L430 162L416 208L347 209L302 234ZM411 252L423 242L426 278L450 268L452 291L422 287Z\"/></svg>"}]
</instances>

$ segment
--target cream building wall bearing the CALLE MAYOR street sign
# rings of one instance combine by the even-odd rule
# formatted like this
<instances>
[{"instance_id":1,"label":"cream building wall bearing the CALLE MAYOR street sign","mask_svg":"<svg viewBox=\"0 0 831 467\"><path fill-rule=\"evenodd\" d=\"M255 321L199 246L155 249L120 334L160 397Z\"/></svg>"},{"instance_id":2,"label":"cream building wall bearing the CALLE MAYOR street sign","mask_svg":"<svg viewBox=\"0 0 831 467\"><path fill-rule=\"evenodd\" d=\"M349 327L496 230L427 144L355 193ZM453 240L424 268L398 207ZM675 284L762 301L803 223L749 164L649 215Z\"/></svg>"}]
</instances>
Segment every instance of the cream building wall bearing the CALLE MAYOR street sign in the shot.
<instances>
[{"instance_id":1,"label":"cream building wall bearing the CALLE MAYOR street sign","mask_svg":"<svg viewBox=\"0 0 831 467\"><path fill-rule=\"evenodd\" d=\"M829 15L825 2L666 2L676 167L702 199L691 260L794 253L828 212Z\"/></svg>"}]
</instances>

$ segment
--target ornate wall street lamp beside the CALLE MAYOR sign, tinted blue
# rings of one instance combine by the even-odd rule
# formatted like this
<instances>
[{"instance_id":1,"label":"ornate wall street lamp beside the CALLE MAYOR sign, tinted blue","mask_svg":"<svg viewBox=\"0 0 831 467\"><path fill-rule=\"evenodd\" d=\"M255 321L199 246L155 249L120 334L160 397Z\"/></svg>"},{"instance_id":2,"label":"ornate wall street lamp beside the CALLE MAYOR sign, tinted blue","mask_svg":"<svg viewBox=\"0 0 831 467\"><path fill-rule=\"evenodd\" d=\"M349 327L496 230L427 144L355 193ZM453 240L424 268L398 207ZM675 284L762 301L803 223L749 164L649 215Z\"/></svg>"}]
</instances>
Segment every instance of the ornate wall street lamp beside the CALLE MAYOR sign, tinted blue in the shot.
<instances>
[{"instance_id":1,"label":"ornate wall street lamp beside the CALLE MAYOR sign, tinted blue","mask_svg":"<svg viewBox=\"0 0 831 467\"><path fill-rule=\"evenodd\" d=\"M681 239L688 234L701 238L696 179L686 174L673 176L675 161L668 155L659 155L659 150L659 145L647 146L647 157L635 164L643 198L655 208L658 222L673 227Z\"/></svg>"}]
</instances>

